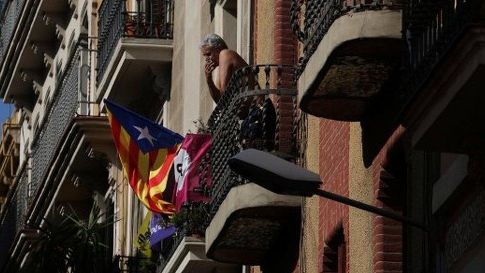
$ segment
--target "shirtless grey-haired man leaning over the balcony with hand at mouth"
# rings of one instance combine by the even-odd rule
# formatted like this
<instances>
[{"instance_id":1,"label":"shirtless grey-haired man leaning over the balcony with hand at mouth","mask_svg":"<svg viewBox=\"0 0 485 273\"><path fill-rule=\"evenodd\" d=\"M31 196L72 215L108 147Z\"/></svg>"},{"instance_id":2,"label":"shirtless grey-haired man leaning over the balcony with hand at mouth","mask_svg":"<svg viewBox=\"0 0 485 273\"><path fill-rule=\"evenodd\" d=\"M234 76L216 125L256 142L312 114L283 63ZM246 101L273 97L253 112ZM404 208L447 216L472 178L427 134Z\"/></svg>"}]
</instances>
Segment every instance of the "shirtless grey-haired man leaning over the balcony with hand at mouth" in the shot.
<instances>
[{"instance_id":1,"label":"shirtless grey-haired man leaning over the balcony with hand at mouth","mask_svg":"<svg viewBox=\"0 0 485 273\"><path fill-rule=\"evenodd\" d=\"M212 99L217 103L233 76L233 73L247 63L239 54L228 49L226 42L217 34L207 35L199 45L202 56L205 57L205 78ZM212 79L212 72L219 67L219 77Z\"/></svg>"}]
</instances>

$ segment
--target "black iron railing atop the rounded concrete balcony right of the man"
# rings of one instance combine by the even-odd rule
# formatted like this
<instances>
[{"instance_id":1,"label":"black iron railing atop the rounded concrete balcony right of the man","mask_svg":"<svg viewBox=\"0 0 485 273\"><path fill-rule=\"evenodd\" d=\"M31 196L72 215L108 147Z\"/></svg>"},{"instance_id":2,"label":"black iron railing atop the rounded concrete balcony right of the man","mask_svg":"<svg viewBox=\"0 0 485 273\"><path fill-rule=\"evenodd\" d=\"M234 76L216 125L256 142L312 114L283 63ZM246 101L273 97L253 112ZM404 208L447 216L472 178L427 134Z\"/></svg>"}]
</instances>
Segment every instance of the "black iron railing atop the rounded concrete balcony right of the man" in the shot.
<instances>
[{"instance_id":1,"label":"black iron railing atop the rounded concrete balcony right of the man","mask_svg":"<svg viewBox=\"0 0 485 273\"><path fill-rule=\"evenodd\" d=\"M333 22L348 12L369 9L401 8L397 2L387 0L292 0L291 25L293 32L303 43L303 57L297 77L301 75L308 61L317 50L323 36Z\"/></svg>"}]
</instances>

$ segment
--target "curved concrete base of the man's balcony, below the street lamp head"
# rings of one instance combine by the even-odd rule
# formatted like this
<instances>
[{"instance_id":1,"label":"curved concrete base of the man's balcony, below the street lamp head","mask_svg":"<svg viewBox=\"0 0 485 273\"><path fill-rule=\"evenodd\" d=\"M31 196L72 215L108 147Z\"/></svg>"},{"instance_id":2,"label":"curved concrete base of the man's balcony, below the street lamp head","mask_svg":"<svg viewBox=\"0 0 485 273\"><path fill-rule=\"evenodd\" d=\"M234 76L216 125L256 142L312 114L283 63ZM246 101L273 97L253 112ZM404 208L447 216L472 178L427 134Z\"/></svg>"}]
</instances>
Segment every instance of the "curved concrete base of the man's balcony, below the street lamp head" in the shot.
<instances>
[{"instance_id":1,"label":"curved concrete base of the man's balcony, below the street lamp head","mask_svg":"<svg viewBox=\"0 0 485 273\"><path fill-rule=\"evenodd\" d=\"M206 230L207 257L266 264L272 254L298 249L288 235L300 232L300 221L299 197L275 194L254 183L233 187Z\"/></svg>"}]
</instances>

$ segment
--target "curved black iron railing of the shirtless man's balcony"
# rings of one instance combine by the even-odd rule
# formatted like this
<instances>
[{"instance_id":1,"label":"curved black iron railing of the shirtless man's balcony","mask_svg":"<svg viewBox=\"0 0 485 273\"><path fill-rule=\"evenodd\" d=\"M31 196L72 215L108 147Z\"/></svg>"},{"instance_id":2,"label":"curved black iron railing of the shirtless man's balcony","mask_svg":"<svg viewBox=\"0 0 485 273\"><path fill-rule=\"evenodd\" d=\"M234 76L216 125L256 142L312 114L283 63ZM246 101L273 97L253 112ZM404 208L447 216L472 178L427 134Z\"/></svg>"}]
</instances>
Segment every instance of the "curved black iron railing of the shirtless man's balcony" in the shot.
<instances>
[{"instance_id":1,"label":"curved black iron railing of the shirtless man's balcony","mask_svg":"<svg viewBox=\"0 0 485 273\"><path fill-rule=\"evenodd\" d=\"M243 149L256 148L283 158L296 158L295 79L292 66L256 65L234 73L208 121L213 139L199 168L203 183L211 176L210 217L206 226L229 190L246 182L229 169L232 156Z\"/></svg>"}]
</instances>

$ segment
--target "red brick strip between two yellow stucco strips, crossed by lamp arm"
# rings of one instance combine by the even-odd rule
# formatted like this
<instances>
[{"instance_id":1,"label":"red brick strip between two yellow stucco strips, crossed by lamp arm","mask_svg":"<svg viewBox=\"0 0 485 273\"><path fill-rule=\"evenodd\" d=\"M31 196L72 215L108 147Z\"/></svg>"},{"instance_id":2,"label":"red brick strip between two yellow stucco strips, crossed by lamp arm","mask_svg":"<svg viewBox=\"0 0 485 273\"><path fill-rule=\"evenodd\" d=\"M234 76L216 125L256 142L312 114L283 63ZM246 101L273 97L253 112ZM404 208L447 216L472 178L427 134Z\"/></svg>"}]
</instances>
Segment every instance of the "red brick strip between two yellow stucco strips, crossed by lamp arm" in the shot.
<instances>
[{"instance_id":1,"label":"red brick strip between two yellow stucco strips, crossed by lamp arm","mask_svg":"<svg viewBox=\"0 0 485 273\"><path fill-rule=\"evenodd\" d=\"M348 196L350 126L348 122L322 119L320 122L320 176L325 190ZM348 206L320 198L319 251L323 259L324 244L343 228L344 241L348 238ZM348 256L348 246L346 253ZM348 263L348 259L347 259ZM348 269L347 265L347 269ZM323 271L323 260L319 272ZM348 271L348 270L347 270Z\"/></svg>"}]
</instances>

